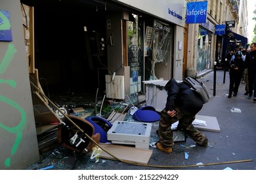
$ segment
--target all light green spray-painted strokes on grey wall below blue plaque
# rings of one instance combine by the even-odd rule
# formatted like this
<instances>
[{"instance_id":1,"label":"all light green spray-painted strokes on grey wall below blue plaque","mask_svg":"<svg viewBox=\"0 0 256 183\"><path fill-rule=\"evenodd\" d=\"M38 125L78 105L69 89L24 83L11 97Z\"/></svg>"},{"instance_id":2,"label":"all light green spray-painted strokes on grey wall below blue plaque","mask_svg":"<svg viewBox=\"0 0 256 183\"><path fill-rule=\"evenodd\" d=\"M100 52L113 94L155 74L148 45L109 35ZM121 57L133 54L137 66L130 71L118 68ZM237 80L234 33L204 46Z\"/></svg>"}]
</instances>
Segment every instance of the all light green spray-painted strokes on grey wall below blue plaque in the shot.
<instances>
[{"instance_id":1,"label":"all light green spray-painted strokes on grey wall below blue plaque","mask_svg":"<svg viewBox=\"0 0 256 183\"><path fill-rule=\"evenodd\" d=\"M1 14L0 14L0 16L1 16ZM15 53L16 53L15 46L13 44L9 44L8 50L5 53L5 56L3 57L3 59L0 63L0 74L5 73L7 67L11 63ZM14 80L0 79L0 84L1 83L9 84L10 86L12 86L12 88L16 88L16 82ZM21 116L20 122L18 122L18 124L14 127L9 127L0 122L1 128L5 129L6 131L9 131L10 133L16 134L16 139L15 139L14 144L11 149L11 156L13 156L16 153L16 151L18 150L18 146L19 146L20 142L22 141L22 131L24 130L24 128L26 126L26 120L27 120L26 112L22 107L20 107L20 105L18 105L18 103L16 103L12 99L4 97L3 95L0 95L0 101L2 101L3 103L6 103L7 105L10 105L11 107L18 110L20 112L20 116ZM11 167L11 158L5 159L5 166Z\"/></svg>"}]
</instances>

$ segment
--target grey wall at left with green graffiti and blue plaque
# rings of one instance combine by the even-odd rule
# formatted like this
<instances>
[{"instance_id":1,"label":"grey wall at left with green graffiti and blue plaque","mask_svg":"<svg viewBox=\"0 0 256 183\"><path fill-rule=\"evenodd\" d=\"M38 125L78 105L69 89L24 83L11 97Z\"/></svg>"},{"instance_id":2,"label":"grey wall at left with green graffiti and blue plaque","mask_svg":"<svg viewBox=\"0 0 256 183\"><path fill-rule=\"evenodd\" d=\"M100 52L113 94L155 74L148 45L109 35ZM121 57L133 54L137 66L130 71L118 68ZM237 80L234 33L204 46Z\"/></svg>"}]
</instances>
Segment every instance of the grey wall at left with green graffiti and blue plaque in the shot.
<instances>
[{"instance_id":1,"label":"grey wall at left with green graffiti and blue plaque","mask_svg":"<svg viewBox=\"0 0 256 183\"><path fill-rule=\"evenodd\" d=\"M22 14L16 0L0 7L0 169L24 169L39 160L39 150Z\"/></svg>"}]
</instances>

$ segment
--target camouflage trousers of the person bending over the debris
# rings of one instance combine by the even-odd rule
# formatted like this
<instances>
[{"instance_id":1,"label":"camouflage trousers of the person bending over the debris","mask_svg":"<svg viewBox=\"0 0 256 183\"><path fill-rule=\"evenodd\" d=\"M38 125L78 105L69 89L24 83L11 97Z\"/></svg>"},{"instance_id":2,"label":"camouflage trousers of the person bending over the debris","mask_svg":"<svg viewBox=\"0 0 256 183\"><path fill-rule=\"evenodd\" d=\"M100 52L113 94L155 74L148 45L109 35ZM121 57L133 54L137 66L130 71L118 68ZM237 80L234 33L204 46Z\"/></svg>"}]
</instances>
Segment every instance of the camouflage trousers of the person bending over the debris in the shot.
<instances>
[{"instance_id":1,"label":"camouflage trousers of the person bending over the debris","mask_svg":"<svg viewBox=\"0 0 256 183\"><path fill-rule=\"evenodd\" d=\"M186 135L192 138L196 143L200 146L207 146L208 139L207 137L198 131L192 122L195 120L196 116L191 114L186 114L185 112L181 112L179 108L175 108L178 112L178 115L171 118L165 109L161 111L160 124L158 127L158 135L160 137L161 144L168 148L174 145L173 142L173 132L171 131L171 124L174 124L179 120L179 124L177 129L184 130Z\"/></svg>"}]
</instances>

